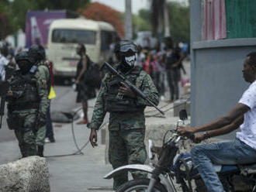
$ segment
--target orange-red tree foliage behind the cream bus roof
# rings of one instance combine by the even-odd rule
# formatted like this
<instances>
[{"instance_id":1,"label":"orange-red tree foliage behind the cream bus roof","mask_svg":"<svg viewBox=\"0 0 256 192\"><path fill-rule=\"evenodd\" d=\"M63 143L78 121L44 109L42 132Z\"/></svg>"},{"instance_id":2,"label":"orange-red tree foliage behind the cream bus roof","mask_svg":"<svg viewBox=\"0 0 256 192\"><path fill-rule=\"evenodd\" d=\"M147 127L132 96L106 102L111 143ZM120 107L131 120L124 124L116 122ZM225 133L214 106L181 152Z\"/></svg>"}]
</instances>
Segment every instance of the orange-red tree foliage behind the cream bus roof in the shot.
<instances>
[{"instance_id":1,"label":"orange-red tree foliage behind the cream bus roof","mask_svg":"<svg viewBox=\"0 0 256 192\"><path fill-rule=\"evenodd\" d=\"M116 29L116 33L119 37L123 38L124 27L122 14L120 12L99 2L91 3L87 8L80 9L80 12L85 15L87 19L109 22Z\"/></svg>"}]
</instances>

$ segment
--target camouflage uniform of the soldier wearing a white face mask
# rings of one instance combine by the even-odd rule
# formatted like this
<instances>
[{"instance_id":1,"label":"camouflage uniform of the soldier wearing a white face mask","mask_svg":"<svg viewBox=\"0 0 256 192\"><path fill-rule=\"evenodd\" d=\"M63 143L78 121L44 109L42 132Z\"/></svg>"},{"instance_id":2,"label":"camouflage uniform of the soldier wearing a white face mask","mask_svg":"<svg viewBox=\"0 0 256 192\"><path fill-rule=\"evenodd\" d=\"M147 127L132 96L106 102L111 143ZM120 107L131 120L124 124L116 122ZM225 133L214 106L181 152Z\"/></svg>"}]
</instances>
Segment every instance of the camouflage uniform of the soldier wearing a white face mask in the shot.
<instances>
[{"instance_id":1,"label":"camouflage uniform of the soldier wearing a white face mask","mask_svg":"<svg viewBox=\"0 0 256 192\"><path fill-rule=\"evenodd\" d=\"M129 79L130 74L126 74ZM99 129L106 115L104 108L104 100L106 93L106 84L115 80L112 74L106 74L102 81L102 87L99 91L98 98L92 115L92 121L89 125L91 129ZM136 79L136 86L153 101L158 104L157 88L154 86L150 76L140 70L140 74ZM137 105L148 105L143 98L137 98ZM113 169L127 164L140 163L144 164L147 159L147 151L144 145L145 135L145 117L144 111L126 112L110 112L109 114L109 162ZM133 178L147 177L143 173L133 172ZM114 177L113 188L116 190L120 185L128 180L127 173L121 173Z\"/></svg>"}]
</instances>

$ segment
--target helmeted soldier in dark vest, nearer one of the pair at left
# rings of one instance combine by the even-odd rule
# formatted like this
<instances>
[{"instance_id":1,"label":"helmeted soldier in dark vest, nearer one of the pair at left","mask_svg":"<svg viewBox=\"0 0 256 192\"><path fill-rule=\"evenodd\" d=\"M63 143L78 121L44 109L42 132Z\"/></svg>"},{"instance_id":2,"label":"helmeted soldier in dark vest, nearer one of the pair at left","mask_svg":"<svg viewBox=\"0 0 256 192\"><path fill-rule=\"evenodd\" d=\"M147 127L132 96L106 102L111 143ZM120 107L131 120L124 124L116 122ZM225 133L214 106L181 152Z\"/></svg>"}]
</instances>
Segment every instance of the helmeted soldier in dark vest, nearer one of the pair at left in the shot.
<instances>
[{"instance_id":1,"label":"helmeted soldier in dark vest, nearer one of the pair at left","mask_svg":"<svg viewBox=\"0 0 256 192\"><path fill-rule=\"evenodd\" d=\"M9 129L14 129L19 141L22 157L40 155L40 146L36 146L36 132L45 125L48 106L47 84L42 73L29 53L17 53L16 70L9 78L8 101Z\"/></svg>"}]
</instances>

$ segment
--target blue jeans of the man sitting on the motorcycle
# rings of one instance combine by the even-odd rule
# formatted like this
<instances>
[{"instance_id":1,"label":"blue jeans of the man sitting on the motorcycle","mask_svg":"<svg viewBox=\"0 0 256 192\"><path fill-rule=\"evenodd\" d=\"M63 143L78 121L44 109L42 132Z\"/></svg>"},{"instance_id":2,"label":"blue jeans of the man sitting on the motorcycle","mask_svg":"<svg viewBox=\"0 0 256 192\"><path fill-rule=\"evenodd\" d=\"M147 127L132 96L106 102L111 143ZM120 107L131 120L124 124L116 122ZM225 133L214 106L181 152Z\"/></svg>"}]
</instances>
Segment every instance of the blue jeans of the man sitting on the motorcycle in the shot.
<instances>
[{"instance_id":1,"label":"blue jeans of the man sitting on the motorcycle","mask_svg":"<svg viewBox=\"0 0 256 192\"><path fill-rule=\"evenodd\" d=\"M225 191L213 164L237 165L256 162L256 150L239 139L195 146L191 149L191 155L209 192Z\"/></svg>"}]
</instances>

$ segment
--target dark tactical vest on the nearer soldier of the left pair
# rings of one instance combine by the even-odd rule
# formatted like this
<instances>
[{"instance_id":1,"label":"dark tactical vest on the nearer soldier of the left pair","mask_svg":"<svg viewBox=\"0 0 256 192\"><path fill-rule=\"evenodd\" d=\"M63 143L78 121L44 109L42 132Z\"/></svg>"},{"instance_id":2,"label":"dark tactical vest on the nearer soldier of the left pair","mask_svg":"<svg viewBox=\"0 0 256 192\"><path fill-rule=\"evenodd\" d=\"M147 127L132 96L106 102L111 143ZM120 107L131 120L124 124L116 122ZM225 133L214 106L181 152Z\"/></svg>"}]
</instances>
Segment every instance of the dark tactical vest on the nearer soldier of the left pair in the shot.
<instances>
[{"instance_id":1,"label":"dark tactical vest on the nearer soldier of the left pair","mask_svg":"<svg viewBox=\"0 0 256 192\"><path fill-rule=\"evenodd\" d=\"M9 101L10 111L38 108L40 98L36 90L36 78L33 74L22 75L16 72L14 80L9 82L12 98Z\"/></svg>"}]
</instances>

